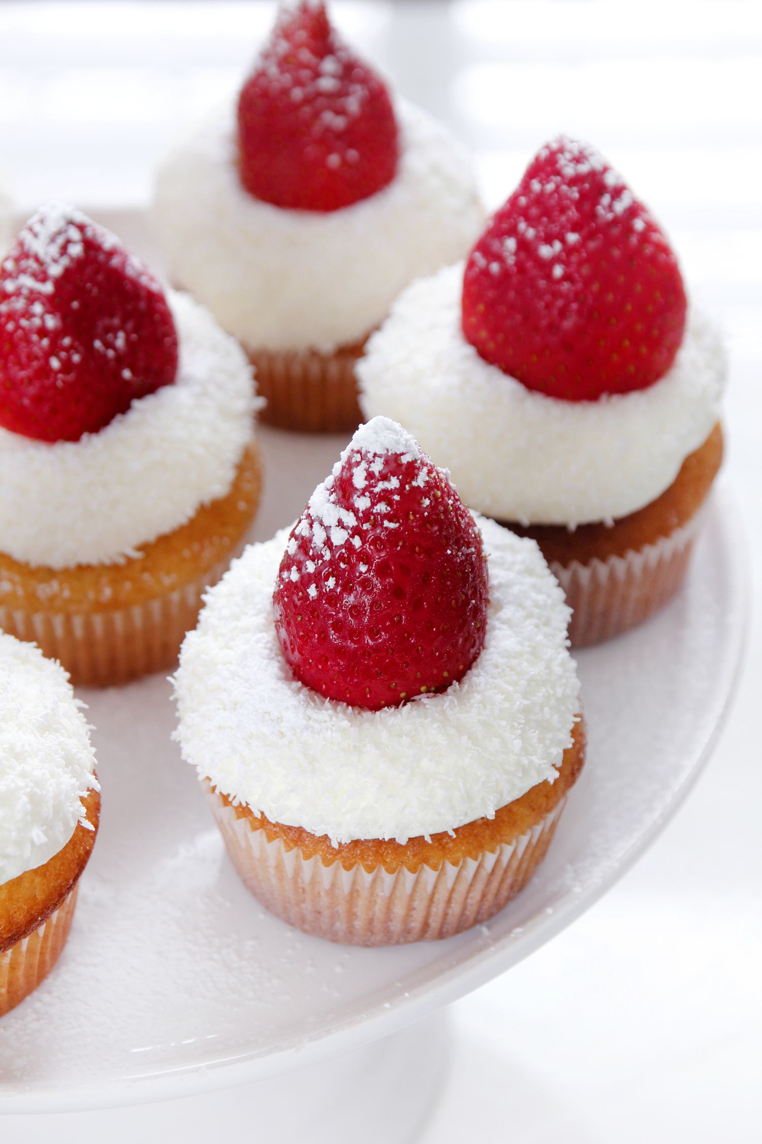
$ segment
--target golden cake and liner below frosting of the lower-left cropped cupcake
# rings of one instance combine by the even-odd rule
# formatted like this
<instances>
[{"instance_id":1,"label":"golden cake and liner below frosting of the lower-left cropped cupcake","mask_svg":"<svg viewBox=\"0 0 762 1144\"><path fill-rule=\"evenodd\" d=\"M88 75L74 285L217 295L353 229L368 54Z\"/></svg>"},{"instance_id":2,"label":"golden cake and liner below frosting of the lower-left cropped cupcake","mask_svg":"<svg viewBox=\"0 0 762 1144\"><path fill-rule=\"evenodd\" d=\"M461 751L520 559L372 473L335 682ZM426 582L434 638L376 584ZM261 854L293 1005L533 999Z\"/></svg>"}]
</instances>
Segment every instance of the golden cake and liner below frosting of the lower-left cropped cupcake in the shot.
<instances>
[{"instance_id":1,"label":"golden cake and liner below frosting of the lower-left cropped cupcake","mask_svg":"<svg viewBox=\"0 0 762 1144\"><path fill-rule=\"evenodd\" d=\"M0 885L0 1017L43 980L71 929L77 885L98 829L101 797L85 800L93 831L79 825L65 847L43 866Z\"/></svg>"}]
</instances>

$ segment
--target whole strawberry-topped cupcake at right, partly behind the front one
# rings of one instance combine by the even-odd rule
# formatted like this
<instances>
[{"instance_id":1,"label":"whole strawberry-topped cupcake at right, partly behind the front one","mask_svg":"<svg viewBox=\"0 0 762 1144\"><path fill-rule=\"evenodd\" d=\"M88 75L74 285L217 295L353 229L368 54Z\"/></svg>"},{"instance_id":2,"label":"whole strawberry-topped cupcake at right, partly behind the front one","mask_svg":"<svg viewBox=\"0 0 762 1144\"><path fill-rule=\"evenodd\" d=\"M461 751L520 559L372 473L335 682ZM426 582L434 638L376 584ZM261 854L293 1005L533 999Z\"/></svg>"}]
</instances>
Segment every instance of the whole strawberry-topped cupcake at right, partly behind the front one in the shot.
<instances>
[{"instance_id":1,"label":"whole strawberry-topped cupcake at right, partly behind the front one","mask_svg":"<svg viewBox=\"0 0 762 1144\"><path fill-rule=\"evenodd\" d=\"M359 366L464 500L539 543L572 644L680 586L722 460L725 363L669 244L592 148L543 148L465 267L410 286Z\"/></svg>"}]
</instances>

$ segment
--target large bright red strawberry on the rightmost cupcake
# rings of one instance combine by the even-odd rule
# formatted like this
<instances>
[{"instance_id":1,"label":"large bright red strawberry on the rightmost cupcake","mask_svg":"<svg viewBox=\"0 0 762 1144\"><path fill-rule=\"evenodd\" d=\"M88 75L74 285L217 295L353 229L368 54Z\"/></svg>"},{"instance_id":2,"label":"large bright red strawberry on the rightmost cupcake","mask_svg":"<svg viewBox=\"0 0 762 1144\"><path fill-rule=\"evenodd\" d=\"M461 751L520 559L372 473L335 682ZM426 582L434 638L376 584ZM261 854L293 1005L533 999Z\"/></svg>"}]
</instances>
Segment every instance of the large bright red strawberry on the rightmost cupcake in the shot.
<instances>
[{"instance_id":1,"label":"large bright red strawberry on the rightmost cupcake","mask_svg":"<svg viewBox=\"0 0 762 1144\"><path fill-rule=\"evenodd\" d=\"M481 357L569 402L645 389L685 326L677 261L592 148L539 151L466 264L463 332Z\"/></svg>"}]
</instances>

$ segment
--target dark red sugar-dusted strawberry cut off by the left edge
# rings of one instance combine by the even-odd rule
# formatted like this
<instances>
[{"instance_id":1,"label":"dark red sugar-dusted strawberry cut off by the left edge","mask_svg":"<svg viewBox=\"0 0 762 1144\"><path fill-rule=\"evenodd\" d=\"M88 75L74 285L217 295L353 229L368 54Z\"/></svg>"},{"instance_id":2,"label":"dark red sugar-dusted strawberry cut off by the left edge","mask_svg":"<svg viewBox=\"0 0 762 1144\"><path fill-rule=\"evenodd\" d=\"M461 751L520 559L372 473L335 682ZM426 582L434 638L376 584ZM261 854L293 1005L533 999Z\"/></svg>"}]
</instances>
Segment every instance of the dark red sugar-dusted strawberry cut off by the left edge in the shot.
<instances>
[{"instance_id":1,"label":"dark red sugar-dusted strawberry cut off by the left edge","mask_svg":"<svg viewBox=\"0 0 762 1144\"><path fill-rule=\"evenodd\" d=\"M78 210L34 215L0 265L0 426L79 440L176 372L154 276Z\"/></svg>"}]
</instances>

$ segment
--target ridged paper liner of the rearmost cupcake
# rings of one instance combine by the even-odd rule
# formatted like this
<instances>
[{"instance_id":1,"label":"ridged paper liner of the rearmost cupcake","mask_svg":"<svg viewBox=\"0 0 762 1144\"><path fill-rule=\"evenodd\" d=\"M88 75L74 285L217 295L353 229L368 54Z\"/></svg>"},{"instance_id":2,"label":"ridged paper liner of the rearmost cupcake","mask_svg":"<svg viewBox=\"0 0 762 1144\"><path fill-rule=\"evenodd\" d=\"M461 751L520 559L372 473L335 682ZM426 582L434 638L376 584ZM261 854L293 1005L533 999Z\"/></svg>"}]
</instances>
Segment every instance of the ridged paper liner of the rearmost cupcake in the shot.
<instances>
[{"instance_id":1,"label":"ridged paper liner of the rearmost cupcake","mask_svg":"<svg viewBox=\"0 0 762 1144\"><path fill-rule=\"evenodd\" d=\"M335 353L248 350L257 392L267 402L259 419L279 429L352 432L362 421L354 364L363 343Z\"/></svg>"}]
</instances>

